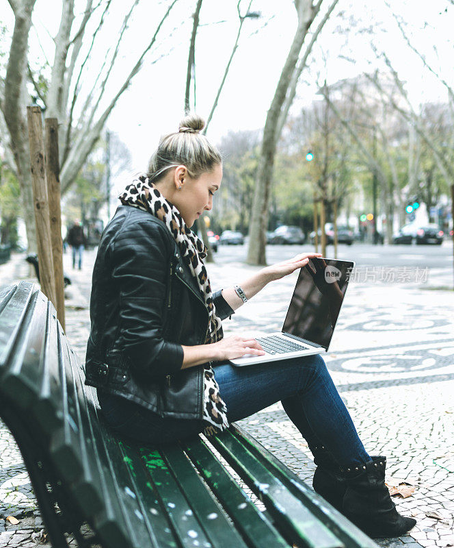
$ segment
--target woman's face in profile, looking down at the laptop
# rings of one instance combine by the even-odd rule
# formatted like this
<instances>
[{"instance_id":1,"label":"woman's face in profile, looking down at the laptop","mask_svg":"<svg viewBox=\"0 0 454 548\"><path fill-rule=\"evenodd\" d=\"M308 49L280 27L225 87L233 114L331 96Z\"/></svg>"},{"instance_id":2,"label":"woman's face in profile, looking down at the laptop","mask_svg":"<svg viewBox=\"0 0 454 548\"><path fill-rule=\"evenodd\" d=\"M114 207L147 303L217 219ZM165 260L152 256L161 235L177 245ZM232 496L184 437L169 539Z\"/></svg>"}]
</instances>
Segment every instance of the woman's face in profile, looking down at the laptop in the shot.
<instances>
[{"instance_id":1,"label":"woman's face in profile, looking down at the laptop","mask_svg":"<svg viewBox=\"0 0 454 548\"><path fill-rule=\"evenodd\" d=\"M181 190L175 192L174 205L188 227L194 224L204 210L211 210L213 195L221 186L221 181L221 164L215 166L213 171L202 173L198 179L191 179L187 172L181 177L179 181Z\"/></svg>"}]
</instances>

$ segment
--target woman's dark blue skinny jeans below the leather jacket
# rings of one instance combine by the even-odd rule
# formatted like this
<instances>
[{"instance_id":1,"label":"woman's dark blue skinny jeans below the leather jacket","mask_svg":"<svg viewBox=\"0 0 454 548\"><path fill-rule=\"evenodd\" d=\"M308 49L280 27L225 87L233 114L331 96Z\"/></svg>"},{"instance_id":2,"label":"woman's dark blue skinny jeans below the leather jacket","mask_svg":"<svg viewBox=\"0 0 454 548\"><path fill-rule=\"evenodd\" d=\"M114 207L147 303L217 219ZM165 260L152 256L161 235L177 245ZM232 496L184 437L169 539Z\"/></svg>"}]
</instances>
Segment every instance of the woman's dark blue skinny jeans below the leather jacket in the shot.
<instances>
[{"instance_id":1,"label":"woman's dark blue skinny jeans below the leather jacket","mask_svg":"<svg viewBox=\"0 0 454 548\"><path fill-rule=\"evenodd\" d=\"M215 366L215 378L227 406L229 422L245 419L277 401L306 439L312 453L323 446L341 466L370 459L332 378L319 355L235 367ZM98 399L111 427L143 443L168 443L204 429L200 420L162 419L122 397Z\"/></svg>"}]
</instances>

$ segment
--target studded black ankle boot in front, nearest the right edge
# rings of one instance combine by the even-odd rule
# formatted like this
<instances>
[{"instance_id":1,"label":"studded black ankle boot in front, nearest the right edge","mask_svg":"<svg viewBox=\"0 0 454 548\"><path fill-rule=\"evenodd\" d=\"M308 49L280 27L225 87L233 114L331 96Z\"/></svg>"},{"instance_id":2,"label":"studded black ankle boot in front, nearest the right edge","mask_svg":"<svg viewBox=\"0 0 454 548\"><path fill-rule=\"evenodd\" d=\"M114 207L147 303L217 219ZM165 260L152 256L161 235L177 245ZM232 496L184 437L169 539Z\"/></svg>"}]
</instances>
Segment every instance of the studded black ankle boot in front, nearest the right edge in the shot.
<instances>
[{"instance_id":1,"label":"studded black ankle boot in front, nearest the right edge","mask_svg":"<svg viewBox=\"0 0 454 548\"><path fill-rule=\"evenodd\" d=\"M371 458L363 466L343 471L347 490L342 512L369 536L401 536L416 519L401 516L391 500L385 485L386 457Z\"/></svg>"}]
</instances>

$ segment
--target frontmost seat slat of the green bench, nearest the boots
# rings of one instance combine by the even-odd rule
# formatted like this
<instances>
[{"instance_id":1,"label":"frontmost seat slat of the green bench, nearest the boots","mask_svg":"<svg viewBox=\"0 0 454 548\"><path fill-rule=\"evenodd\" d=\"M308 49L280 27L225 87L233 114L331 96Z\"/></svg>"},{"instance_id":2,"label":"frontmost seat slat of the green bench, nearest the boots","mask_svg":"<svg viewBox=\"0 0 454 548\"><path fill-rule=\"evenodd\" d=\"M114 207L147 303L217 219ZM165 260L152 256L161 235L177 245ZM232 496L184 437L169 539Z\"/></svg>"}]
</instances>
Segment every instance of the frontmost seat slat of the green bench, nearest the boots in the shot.
<instances>
[{"instance_id":1,"label":"frontmost seat slat of the green bench, nearest the boots","mask_svg":"<svg viewBox=\"0 0 454 548\"><path fill-rule=\"evenodd\" d=\"M273 475L276 475L282 483L291 490L297 497L304 500L304 505L310 509L315 516L325 523L327 527L340 538L349 548L377 548L374 541L364 534L358 527L355 527L341 512L335 510L325 499L314 493L299 477L289 468L282 465L282 462L276 458L273 453L250 436L239 425L234 425L231 429L240 443L259 458L265 458L267 466L271 467Z\"/></svg>"}]
</instances>

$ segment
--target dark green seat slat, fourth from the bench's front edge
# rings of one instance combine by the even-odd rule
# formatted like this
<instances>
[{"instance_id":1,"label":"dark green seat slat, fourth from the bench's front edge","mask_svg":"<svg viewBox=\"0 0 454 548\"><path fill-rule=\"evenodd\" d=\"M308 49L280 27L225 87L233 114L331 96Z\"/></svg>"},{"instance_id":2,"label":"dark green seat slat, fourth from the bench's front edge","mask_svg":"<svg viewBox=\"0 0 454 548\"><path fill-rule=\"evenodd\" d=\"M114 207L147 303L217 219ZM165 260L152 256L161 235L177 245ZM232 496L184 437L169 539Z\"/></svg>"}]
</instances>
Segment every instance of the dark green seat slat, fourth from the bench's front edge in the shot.
<instances>
[{"instance_id":1,"label":"dark green seat slat, fourth from the bench's front edge","mask_svg":"<svg viewBox=\"0 0 454 548\"><path fill-rule=\"evenodd\" d=\"M206 535L215 547L234 546L247 548L241 536L232 529L221 506L202 482L200 475L193 469L185 453L179 446L165 445L161 448L178 486L191 503L193 513L204 528ZM196 503L194 503L196 501Z\"/></svg>"}]
</instances>

